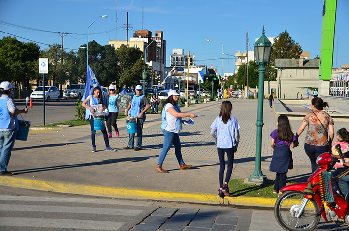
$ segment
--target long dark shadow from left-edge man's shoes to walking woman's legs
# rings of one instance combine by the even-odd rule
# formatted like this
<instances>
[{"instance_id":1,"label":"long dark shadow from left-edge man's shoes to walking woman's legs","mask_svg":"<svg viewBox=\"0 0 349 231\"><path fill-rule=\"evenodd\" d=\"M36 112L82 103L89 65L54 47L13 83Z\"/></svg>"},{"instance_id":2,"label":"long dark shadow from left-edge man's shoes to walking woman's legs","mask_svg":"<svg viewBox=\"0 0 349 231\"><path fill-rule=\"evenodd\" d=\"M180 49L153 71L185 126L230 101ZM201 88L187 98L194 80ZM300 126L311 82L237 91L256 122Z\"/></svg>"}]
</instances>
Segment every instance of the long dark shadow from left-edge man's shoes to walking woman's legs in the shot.
<instances>
[{"instance_id":1,"label":"long dark shadow from left-edge man's shoes to walking woman's legs","mask_svg":"<svg viewBox=\"0 0 349 231\"><path fill-rule=\"evenodd\" d=\"M74 164L74 165L60 165L60 166L52 166L52 167L42 167L42 168L32 168L32 169L24 169L24 170L18 170L18 171L12 171L15 173L14 175L20 175L25 173L33 173L33 172L42 172L42 171L52 171L52 170L60 170L60 169L67 169L67 168L76 168L76 167L87 167L87 166L95 166L95 165L108 165L108 164L114 164L119 162L140 162L145 161L150 158L154 158L158 156L146 156L146 157L126 157L126 158L119 158L119 159L110 159L110 160L104 160L99 162L91 162L91 163L81 163L81 164Z\"/></svg>"}]
</instances>

